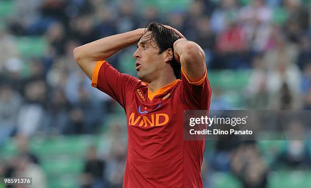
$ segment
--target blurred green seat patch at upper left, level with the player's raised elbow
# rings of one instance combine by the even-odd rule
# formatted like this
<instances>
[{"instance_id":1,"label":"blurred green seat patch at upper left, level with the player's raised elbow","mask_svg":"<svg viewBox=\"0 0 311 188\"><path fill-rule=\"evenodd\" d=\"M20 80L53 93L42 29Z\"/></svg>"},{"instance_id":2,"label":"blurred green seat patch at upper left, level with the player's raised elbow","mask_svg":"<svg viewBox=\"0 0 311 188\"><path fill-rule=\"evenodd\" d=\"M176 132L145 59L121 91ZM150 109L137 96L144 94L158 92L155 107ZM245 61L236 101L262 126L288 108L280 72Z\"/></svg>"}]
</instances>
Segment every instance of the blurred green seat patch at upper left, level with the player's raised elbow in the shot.
<instances>
[{"instance_id":1,"label":"blurred green seat patch at upper left, level with the player's raised elbow","mask_svg":"<svg viewBox=\"0 0 311 188\"><path fill-rule=\"evenodd\" d=\"M22 57L40 57L47 48L44 37L18 37L16 38L18 52Z\"/></svg>"}]
</instances>

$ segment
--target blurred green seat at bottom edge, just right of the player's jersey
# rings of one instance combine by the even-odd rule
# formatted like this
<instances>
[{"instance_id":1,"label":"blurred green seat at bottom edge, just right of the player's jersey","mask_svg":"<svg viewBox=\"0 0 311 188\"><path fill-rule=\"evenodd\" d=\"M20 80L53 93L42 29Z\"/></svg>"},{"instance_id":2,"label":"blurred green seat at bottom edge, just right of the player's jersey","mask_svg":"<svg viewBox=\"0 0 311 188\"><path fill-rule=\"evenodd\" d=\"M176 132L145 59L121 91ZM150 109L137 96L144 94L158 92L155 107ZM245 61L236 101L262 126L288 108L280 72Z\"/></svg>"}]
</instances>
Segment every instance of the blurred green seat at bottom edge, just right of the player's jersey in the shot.
<instances>
[{"instance_id":1,"label":"blurred green seat at bottom edge, just right of the player's jersey","mask_svg":"<svg viewBox=\"0 0 311 188\"><path fill-rule=\"evenodd\" d=\"M241 183L230 173L216 172L211 177L211 187L216 188L239 188Z\"/></svg>"}]
</instances>

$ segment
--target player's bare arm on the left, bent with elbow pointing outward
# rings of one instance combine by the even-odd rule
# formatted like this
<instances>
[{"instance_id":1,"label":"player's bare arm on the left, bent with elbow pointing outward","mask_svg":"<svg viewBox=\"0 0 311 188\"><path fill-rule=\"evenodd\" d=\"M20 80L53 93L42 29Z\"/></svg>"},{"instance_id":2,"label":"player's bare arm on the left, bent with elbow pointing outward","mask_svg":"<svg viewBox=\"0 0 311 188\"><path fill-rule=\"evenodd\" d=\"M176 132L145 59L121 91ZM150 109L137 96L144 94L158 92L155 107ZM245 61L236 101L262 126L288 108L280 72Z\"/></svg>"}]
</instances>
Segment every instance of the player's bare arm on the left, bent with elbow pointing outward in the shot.
<instances>
[{"instance_id":1,"label":"player's bare arm on the left, bent with elbow pointing outward","mask_svg":"<svg viewBox=\"0 0 311 188\"><path fill-rule=\"evenodd\" d=\"M105 60L119 50L137 43L145 33L144 28L107 36L74 49L74 57L88 78L92 79L96 62Z\"/></svg>"}]
</instances>

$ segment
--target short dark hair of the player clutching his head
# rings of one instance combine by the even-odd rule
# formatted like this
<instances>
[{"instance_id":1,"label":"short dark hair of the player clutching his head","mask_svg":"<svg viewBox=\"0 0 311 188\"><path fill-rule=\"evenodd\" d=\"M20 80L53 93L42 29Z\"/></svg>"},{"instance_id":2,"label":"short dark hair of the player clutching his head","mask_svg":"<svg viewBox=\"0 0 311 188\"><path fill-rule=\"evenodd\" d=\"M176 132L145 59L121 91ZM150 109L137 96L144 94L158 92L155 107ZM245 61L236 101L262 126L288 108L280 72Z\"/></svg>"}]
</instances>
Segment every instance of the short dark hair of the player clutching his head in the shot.
<instances>
[{"instance_id":1,"label":"short dark hair of the player clutching his head","mask_svg":"<svg viewBox=\"0 0 311 188\"><path fill-rule=\"evenodd\" d=\"M151 22L145 27L146 31L151 31L151 40L154 40L158 45L159 54L162 54L167 49L172 49L173 58L170 60L170 65L174 70L177 79L181 78L181 65L175 60L174 57L174 42L180 39L180 36L172 29L164 27L158 22ZM148 35L150 36L150 35Z\"/></svg>"}]
</instances>

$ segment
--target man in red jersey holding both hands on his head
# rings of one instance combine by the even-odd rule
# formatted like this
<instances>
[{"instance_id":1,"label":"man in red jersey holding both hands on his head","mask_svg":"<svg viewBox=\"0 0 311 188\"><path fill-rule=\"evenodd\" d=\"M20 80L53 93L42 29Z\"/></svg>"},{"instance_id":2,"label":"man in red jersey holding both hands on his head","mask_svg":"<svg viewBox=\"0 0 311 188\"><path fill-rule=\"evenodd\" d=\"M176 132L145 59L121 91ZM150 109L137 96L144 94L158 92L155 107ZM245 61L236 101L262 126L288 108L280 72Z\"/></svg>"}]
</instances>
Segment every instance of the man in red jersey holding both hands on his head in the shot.
<instances>
[{"instance_id":1,"label":"man in red jersey holding both hands on his head","mask_svg":"<svg viewBox=\"0 0 311 188\"><path fill-rule=\"evenodd\" d=\"M140 80L105 59L136 44ZM74 50L92 87L125 109L128 153L123 187L203 187L204 140L185 141L183 110L209 109L211 90L205 55L176 29L150 23ZM181 80L179 80L181 77Z\"/></svg>"}]
</instances>

